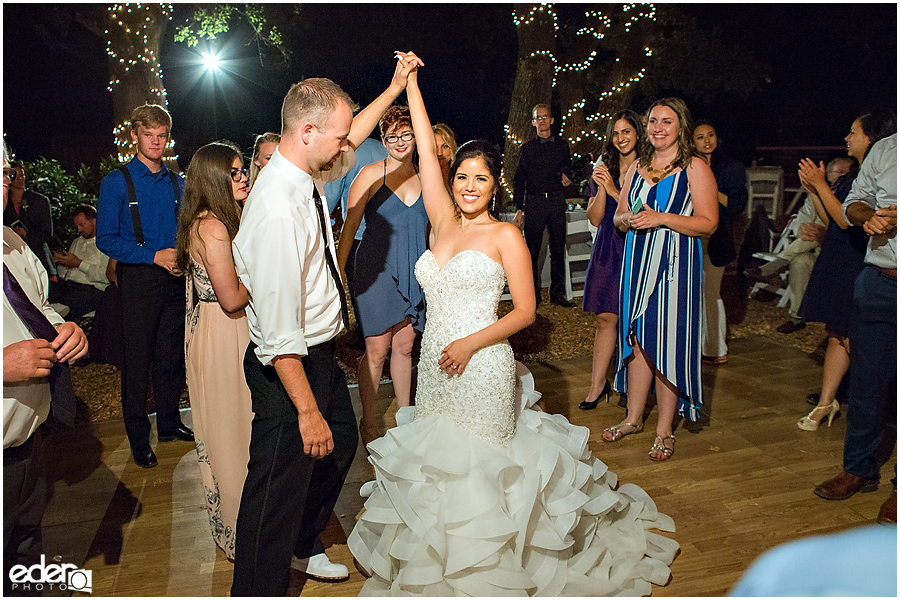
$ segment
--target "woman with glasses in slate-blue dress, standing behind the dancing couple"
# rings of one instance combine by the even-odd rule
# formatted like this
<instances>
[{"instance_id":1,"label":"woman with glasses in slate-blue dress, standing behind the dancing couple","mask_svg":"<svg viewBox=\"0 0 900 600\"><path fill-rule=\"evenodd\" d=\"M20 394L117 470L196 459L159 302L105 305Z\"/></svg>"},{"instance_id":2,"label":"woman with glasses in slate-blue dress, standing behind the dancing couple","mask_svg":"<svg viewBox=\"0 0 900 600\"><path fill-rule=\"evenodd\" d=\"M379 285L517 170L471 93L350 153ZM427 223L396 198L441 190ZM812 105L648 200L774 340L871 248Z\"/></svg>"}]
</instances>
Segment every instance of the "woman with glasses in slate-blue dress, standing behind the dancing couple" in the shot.
<instances>
[{"instance_id":1,"label":"woman with glasses in slate-blue dress, standing behind the dancing couple","mask_svg":"<svg viewBox=\"0 0 900 600\"><path fill-rule=\"evenodd\" d=\"M338 264L343 271L365 216L366 230L356 250L353 278L357 318L366 339L366 352L359 363L363 408L359 431L365 443L379 437L375 395L388 351L397 406L409 406L413 343L425 326L425 297L413 269L425 252L428 214L413 163L416 140L409 109L391 106L381 117L379 129L388 157L363 167L353 180L338 244Z\"/></svg>"}]
</instances>

